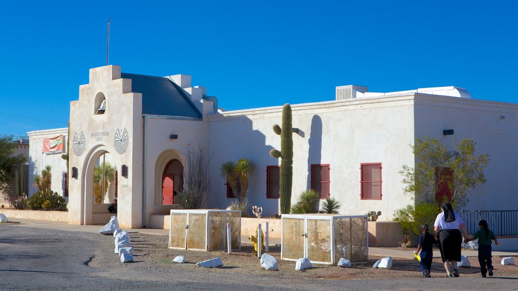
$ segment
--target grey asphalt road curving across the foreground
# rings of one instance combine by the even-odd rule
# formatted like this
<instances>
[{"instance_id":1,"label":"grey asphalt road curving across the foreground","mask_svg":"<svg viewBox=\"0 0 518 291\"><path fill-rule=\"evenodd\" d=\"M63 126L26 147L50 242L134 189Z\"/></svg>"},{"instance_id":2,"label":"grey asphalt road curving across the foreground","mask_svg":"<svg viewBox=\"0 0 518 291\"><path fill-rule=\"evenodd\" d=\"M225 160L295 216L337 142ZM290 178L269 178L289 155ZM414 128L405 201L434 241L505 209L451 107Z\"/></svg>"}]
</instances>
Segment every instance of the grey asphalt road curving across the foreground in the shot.
<instances>
[{"instance_id":1,"label":"grey asphalt road curving across the foreground","mask_svg":"<svg viewBox=\"0 0 518 291\"><path fill-rule=\"evenodd\" d=\"M92 232L0 225L0 290L517 290L518 278L315 280L141 264L103 267L113 238ZM95 258L94 258L95 257ZM92 260L93 259L93 260ZM113 260L112 257L109 258ZM95 264L93 264L95 263Z\"/></svg>"}]
</instances>

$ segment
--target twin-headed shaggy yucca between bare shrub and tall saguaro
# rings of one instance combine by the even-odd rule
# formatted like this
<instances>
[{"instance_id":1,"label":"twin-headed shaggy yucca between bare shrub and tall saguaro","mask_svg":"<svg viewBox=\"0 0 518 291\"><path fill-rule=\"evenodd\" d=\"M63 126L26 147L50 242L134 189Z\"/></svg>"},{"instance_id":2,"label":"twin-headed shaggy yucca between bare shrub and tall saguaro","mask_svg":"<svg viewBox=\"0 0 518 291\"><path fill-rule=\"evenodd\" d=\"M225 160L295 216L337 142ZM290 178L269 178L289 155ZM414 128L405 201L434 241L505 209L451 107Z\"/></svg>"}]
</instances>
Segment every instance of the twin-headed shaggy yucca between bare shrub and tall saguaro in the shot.
<instances>
[{"instance_id":1,"label":"twin-headed shaggy yucca between bare shrub and tall saguaro","mask_svg":"<svg viewBox=\"0 0 518 291\"><path fill-rule=\"evenodd\" d=\"M254 172L252 162L248 158L240 158L237 163L227 161L221 165L220 171L221 178L226 179L239 203L243 203L247 198L248 177Z\"/></svg>"}]
</instances>

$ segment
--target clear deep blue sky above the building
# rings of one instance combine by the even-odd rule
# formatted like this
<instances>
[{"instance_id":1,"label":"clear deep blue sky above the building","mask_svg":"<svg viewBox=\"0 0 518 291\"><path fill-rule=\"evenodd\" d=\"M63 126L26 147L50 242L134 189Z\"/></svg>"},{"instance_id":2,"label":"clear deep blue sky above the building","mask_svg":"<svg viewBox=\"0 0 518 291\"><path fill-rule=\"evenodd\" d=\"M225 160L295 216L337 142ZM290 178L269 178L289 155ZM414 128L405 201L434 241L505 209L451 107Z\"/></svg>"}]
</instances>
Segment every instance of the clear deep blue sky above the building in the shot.
<instances>
[{"instance_id":1,"label":"clear deep blue sky above the building","mask_svg":"<svg viewBox=\"0 0 518 291\"><path fill-rule=\"evenodd\" d=\"M228 110L455 85L517 102L515 1L2 1L0 134L66 127L90 68L192 75Z\"/></svg>"}]
</instances>

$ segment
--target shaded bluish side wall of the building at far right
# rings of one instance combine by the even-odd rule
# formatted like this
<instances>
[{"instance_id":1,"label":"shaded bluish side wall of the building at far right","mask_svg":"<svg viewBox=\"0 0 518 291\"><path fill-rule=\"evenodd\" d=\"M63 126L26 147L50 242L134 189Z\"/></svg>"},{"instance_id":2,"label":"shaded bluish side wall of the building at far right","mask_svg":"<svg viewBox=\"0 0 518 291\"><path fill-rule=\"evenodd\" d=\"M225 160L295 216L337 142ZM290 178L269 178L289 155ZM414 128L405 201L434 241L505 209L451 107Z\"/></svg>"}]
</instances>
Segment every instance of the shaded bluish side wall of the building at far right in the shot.
<instances>
[{"instance_id":1,"label":"shaded bluish side wall of the building at far right","mask_svg":"<svg viewBox=\"0 0 518 291\"><path fill-rule=\"evenodd\" d=\"M501 119L501 115L505 118ZM475 154L490 154L484 170L486 184L470 194L465 210L516 210L518 201L518 105L476 99L416 95L416 137L439 139L454 149L463 138L476 142ZM443 136L443 129L453 129L453 136Z\"/></svg>"}]
</instances>

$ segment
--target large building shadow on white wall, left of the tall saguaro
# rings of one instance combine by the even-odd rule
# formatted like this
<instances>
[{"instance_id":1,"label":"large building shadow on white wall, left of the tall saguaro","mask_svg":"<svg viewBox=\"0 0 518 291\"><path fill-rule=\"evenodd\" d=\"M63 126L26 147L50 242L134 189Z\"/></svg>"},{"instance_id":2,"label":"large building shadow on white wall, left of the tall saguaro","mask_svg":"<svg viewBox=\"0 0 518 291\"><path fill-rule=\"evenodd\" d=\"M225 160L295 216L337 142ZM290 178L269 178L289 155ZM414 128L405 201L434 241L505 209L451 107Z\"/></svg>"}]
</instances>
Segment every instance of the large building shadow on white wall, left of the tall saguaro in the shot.
<instances>
[{"instance_id":1,"label":"large building shadow on white wall, left of the tall saguaro","mask_svg":"<svg viewBox=\"0 0 518 291\"><path fill-rule=\"evenodd\" d=\"M281 119L272 122L281 123ZM273 129L270 129L273 132ZM254 172L249 177L247 200L250 206L263 207L263 216L278 213L279 199L266 197L266 167L280 165L280 160L270 156L273 147L266 144L266 137L259 130L253 129L253 122L246 116L225 117L224 120L211 122L210 148L213 150L211 160L211 191L209 204L225 209L236 201L226 198L226 181L221 178L220 167L227 161L237 162L240 158L248 158L254 165ZM276 135L276 137L278 137ZM278 137L280 144L280 137ZM253 215L251 210L249 214Z\"/></svg>"}]
</instances>

